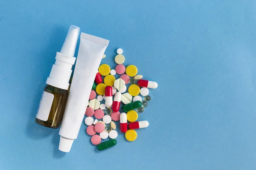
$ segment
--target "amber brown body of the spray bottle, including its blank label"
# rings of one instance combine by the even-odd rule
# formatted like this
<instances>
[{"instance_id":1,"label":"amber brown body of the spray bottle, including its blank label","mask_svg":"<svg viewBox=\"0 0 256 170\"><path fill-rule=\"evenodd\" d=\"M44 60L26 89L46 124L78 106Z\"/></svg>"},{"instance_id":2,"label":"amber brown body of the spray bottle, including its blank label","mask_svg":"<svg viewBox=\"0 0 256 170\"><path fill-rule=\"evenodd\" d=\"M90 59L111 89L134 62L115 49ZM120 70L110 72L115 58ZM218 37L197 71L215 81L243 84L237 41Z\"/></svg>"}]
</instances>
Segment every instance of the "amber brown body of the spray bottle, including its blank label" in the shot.
<instances>
[{"instance_id":1,"label":"amber brown body of the spray bottle, including its blank label","mask_svg":"<svg viewBox=\"0 0 256 170\"><path fill-rule=\"evenodd\" d=\"M49 96L47 99L45 98L46 96L45 94ZM68 97L67 90L56 88L51 85L46 85L44 87L44 94L42 96L42 99L39 105L38 114L35 118L35 122L46 127L58 128L61 124L61 120L64 114L67 97ZM47 101L43 101L43 100L47 100ZM45 110L45 108L47 107L50 107L49 111ZM43 111L40 110L41 108L44 110ZM46 118L42 120L39 114L41 115L43 114L43 117L49 115L48 119Z\"/></svg>"}]
</instances>

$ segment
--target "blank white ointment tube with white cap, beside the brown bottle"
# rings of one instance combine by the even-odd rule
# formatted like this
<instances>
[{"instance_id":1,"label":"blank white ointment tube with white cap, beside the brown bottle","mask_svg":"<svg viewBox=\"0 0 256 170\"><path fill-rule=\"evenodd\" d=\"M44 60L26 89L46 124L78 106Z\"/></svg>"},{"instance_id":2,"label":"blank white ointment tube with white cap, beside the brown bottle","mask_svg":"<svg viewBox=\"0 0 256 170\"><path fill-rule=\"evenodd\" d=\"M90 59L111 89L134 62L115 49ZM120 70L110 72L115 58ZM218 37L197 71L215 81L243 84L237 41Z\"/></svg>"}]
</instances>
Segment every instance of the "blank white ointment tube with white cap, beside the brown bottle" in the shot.
<instances>
[{"instance_id":1,"label":"blank white ointment tube with white cap, beside the brown bottle","mask_svg":"<svg viewBox=\"0 0 256 170\"><path fill-rule=\"evenodd\" d=\"M59 131L59 150L69 152L77 138L96 73L109 40L81 33L76 67Z\"/></svg>"}]
</instances>

